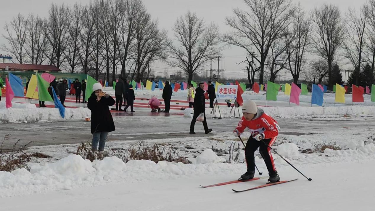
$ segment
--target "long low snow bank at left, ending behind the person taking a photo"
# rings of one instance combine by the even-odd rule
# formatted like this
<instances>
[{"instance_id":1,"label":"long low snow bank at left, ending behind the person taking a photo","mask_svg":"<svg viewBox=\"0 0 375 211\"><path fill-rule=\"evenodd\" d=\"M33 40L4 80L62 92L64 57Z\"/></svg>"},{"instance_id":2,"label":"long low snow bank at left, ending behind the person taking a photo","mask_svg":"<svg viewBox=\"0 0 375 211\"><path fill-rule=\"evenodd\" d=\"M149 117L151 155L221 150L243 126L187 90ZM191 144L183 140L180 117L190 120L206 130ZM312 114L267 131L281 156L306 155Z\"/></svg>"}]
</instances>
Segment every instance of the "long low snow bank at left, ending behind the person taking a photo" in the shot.
<instances>
[{"instance_id":1,"label":"long low snow bank at left, ending behind the person taking a photo","mask_svg":"<svg viewBox=\"0 0 375 211\"><path fill-rule=\"evenodd\" d=\"M1 104L0 104L1 105ZM21 108L20 108L21 107ZM83 120L90 117L91 111L87 108L66 108L63 119L56 108L36 108L34 104L13 103L13 107L0 108L1 122L46 122L46 121L72 121Z\"/></svg>"}]
</instances>

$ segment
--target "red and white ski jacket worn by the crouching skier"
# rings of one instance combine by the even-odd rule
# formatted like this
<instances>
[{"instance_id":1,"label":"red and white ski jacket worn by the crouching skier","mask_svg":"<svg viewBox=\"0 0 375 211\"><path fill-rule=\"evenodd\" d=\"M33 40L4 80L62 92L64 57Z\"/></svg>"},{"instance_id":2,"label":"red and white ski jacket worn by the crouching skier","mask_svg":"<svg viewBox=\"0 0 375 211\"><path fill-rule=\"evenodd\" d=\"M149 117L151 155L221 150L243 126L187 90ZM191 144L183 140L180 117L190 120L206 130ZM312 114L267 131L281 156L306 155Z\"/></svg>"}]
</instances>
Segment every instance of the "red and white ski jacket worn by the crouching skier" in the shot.
<instances>
[{"instance_id":1,"label":"red and white ski jacket worn by the crouching skier","mask_svg":"<svg viewBox=\"0 0 375 211\"><path fill-rule=\"evenodd\" d=\"M280 130L278 122L259 108L257 116L251 121L247 121L245 117L242 117L236 130L243 133L246 128L249 128L252 136L260 134L263 136L263 139L272 139L273 137L278 136Z\"/></svg>"}]
</instances>

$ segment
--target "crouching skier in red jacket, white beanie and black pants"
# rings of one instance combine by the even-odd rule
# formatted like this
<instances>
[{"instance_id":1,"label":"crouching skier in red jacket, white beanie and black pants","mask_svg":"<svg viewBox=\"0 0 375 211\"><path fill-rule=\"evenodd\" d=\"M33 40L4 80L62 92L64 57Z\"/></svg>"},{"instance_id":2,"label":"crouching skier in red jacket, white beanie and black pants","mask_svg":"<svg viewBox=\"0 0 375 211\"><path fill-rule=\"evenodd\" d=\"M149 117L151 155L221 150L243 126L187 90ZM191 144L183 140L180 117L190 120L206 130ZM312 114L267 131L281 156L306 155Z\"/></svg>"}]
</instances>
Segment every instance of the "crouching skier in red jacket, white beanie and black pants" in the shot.
<instances>
[{"instance_id":1,"label":"crouching skier in red jacket, white beanie and black pants","mask_svg":"<svg viewBox=\"0 0 375 211\"><path fill-rule=\"evenodd\" d=\"M243 117L233 131L234 136L240 136L246 128L249 128L251 136L246 143L245 157L248 170L241 175L240 180L247 180L254 178L255 175L255 159L254 152L259 148L259 152L266 163L269 172L269 182L278 182L280 177L273 163L272 154L268 146L275 143L279 134L279 125L275 119L263 112L262 109L257 108L252 100L247 100L242 105ZM261 141L263 140L263 141ZM264 142L264 143L263 143ZM267 146L268 145L268 146Z\"/></svg>"}]
</instances>

